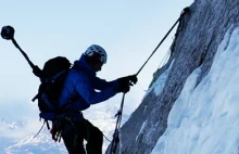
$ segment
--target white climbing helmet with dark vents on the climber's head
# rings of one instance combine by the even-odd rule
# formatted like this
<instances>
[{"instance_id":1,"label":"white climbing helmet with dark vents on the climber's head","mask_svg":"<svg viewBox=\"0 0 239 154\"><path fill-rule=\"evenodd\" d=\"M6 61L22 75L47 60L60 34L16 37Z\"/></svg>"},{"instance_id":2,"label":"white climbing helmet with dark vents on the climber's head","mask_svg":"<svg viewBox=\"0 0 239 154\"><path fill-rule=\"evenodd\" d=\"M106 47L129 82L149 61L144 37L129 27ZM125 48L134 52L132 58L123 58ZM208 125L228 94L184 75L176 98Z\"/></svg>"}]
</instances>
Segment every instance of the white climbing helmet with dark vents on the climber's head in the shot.
<instances>
[{"instance_id":1,"label":"white climbing helmet with dark vents on the climber's head","mask_svg":"<svg viewBox=\"0 0 239 154\"><path fill-rule=\"evenodd\" d=\"M102 47L100 47L100 46L98 46L98 44L91 44L87 50L86 50L86 52L85 52L85 55L87 55L87 56L92 56L93 55L93 53L100 53L100 61L102 62L102 63L106 63L106 60L108 60L108 54L106 54L106 52L105 52L105 50L102 48Z\"/></svg>"}]
</instances>

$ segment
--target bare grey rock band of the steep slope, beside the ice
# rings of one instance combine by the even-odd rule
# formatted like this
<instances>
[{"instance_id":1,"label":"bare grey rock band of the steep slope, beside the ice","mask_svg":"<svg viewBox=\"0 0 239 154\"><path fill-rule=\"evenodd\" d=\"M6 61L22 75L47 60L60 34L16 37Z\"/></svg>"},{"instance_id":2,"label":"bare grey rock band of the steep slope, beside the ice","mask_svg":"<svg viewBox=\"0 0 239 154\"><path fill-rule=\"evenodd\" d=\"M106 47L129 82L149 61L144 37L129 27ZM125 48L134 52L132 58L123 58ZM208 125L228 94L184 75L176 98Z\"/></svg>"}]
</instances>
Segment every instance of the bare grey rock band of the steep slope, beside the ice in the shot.
<instances>
[{"instance_id":1,"label":"bare grey rock band of the steep slope, beside the ice","mask_svg":"<svg viewBox=\"0 0 239 154\"><path fill-rule=\"evenodd\" d=\"M169 61L159 77L173 63L159 95L153 91L121 129L122 154L150 154L167 127L168 113L180 94L188 76L199 66L198 84L209 73L225 33L239 26L238 0L196 0L178 27ZM110 153L110 146L106 151Z\"/></svg>"}]
</instances>

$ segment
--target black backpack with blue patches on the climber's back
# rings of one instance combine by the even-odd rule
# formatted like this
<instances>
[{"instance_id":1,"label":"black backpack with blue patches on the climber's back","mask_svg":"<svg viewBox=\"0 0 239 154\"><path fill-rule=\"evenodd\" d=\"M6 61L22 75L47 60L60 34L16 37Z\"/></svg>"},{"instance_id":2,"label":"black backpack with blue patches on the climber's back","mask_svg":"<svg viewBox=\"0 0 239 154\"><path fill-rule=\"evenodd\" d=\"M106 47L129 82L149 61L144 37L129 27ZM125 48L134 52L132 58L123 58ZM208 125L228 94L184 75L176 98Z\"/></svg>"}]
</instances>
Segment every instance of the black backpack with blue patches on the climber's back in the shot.
<instances>
[{"instance_id":1,"label":"black backpack with blue patches on the climber's back","mask_svg":"<svg viewBox=\"0 0 239 154\"><path fill-rule=\"evenodd\" d=\"M33 101L38 100L39 116L45 121L53 120L60 113L58 107L59 97L70 68L71 63L64 56L53 57L43 65L40 75L41 84Z\"/></svg>"}]
</instances>

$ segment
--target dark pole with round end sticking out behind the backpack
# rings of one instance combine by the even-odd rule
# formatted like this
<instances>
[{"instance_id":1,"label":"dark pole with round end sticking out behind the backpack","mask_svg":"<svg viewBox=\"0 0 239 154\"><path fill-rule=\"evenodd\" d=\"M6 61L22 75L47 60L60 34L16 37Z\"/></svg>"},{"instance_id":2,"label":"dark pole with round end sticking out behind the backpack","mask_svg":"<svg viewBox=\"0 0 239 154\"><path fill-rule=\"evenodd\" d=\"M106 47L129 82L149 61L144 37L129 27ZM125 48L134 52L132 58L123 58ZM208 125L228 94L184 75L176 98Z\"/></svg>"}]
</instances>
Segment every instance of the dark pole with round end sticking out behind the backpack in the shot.
<instances>
[{"instance_id":1,"label":"dark pole with round end sticking out behind the backpack","mask_svg":"<svg viewBox=\"0 0 239 154\"><path fill-rule=\"evenodd\" d=\"M34 65L34 63L29 60L29 57L27 56L27 54L21 49L21 47L17 44L16 40L14 39L14 28L12 26L4 26L2 27L1 30L1 37L5 40L12 40L13 44L21 51L21 53L23 54L23 56L26 59L26 61L28 62L28 64L30 65L30 67L33 68L33 73L37 76L41 78L41 69L37 66Z\"/></svg>"}]
</instances>

